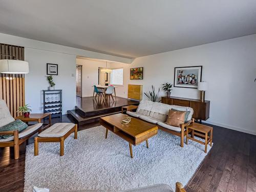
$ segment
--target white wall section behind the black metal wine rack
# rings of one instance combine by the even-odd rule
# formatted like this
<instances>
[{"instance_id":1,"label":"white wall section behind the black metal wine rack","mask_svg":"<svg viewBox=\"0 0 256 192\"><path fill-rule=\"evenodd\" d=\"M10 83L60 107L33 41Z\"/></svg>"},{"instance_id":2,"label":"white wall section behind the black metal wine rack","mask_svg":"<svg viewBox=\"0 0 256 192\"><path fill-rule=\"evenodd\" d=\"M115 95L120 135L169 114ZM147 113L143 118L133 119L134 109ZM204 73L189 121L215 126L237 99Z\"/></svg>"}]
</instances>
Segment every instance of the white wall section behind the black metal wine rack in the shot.
<instances>
[{"instance_id":1,"label":"white wall section behind the black metal wine rack","mask_svg":"<svg viewBox=\"0 0 256 192\"><path fill-rule=\"evenodd\" d=\"M58 75L53 75L55 89L62 89L62 113L75 107L76 56L25 48L25 58L29 62L30 73L25 74L25 100L32 106L32 113L42 113L43 97L41 90L47 90L46 63L58 64Z\"/></svg>"}]
</instances>

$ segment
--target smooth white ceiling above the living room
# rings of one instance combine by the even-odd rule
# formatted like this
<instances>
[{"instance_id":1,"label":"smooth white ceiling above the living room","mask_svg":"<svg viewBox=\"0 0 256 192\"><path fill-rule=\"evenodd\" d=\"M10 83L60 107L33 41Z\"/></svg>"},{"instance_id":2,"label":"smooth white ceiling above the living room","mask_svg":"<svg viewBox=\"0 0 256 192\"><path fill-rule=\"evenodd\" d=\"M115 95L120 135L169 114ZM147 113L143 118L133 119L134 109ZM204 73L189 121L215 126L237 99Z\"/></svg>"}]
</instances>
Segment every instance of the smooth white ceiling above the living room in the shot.
<instances>
[{"instance_id":1,"label":"smooth white ceiling above the living room","mask_svg":"<svg viewBox=\"0 0 256 192\"><path fill-rule=\"evenodd\" d=\"M0 32L124 57L256 33L255 0L1 0Z\"/></svg>"}]
</instances>

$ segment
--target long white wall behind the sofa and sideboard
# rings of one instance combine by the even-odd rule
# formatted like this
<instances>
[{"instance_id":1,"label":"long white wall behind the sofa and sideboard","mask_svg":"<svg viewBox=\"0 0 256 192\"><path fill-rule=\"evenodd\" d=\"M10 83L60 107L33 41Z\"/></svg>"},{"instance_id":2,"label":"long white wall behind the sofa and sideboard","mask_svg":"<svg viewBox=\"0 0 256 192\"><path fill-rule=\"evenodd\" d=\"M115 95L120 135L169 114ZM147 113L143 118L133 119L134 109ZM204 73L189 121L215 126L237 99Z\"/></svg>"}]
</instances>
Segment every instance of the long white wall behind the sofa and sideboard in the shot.
<instances>
[{"instance_id":1,"label":"long white wall behind the sofa and sideboard","mask_svg":"<svg viewBox=\"0 0 256 192\"><path fill-rule=\"evenodd\" d=\"M256 34L176 51L136 58L124 68L124 87L117 95L127 97L127 84L143 84L143 91L162 83L174 83L174 67L203 66L208 82L209 123L256 135ZM130 80L129 70L144 67L143 80ZM160 95L165 93L161 91ZM199 98L195 89L173 88L173 96Z\"/></svg>"}]
</instances>

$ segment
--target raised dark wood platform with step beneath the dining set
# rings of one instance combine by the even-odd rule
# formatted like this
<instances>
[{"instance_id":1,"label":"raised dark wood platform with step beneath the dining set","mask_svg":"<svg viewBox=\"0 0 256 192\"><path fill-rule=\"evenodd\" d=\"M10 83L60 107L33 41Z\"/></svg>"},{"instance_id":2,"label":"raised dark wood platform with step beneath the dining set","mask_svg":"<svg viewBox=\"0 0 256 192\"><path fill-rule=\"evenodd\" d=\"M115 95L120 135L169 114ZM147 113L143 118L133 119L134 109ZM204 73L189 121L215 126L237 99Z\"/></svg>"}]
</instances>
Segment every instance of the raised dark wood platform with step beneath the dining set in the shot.
<instances>
[{"instance_id":1,"label":"raised dark wood platform with step beneath the dining set","mask_svg":"<svg viewBox=\"0 0 256 192\"><path fill-rule=\"evenodd\" d=\"M75 110L69 110L68 114L78 124L78 127L84 124L99 121L100 117L121 113L122 106L138 105L139 101L116 97L116 100L103 102L101 99L93 97L77 97Z\"/></svg>"}]
</instances>

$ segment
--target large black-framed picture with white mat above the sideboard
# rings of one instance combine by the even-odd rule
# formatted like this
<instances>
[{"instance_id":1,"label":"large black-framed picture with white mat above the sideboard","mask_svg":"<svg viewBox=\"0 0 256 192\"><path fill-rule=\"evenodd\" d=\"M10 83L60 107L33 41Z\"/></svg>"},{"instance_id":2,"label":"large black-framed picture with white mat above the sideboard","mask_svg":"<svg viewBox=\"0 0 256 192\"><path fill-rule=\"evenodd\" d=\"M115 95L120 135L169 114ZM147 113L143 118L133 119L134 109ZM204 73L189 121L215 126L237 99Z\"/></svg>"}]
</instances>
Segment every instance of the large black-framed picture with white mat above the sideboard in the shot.
<instances>
[{"instance_id":1,"label":"large black-framed picture with white mat above the sideboard","mask_svg":"<svg viewBox=\"0 0 256 192\"><path fill-rule=\"evenodd\" d=\"M197 89L201 78L202 66L174 68L174 87Z\"/></svg>"}]
</instances>

